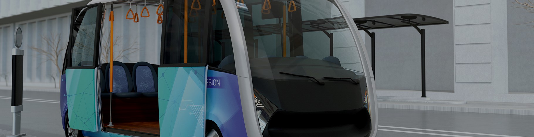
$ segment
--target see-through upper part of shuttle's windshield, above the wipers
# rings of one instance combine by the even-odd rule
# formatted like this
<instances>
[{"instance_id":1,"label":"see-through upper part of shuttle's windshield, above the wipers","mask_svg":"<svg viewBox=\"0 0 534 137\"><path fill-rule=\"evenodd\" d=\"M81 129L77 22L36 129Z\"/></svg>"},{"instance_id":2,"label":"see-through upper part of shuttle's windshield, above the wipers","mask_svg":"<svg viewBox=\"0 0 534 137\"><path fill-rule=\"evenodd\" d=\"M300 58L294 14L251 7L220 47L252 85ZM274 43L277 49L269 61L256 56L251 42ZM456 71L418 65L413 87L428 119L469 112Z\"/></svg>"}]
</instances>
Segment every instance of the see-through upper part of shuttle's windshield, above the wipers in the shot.
<instances>
[{"instance_id":1,"label":"see-through upper part of shuttle's windshield, above the wipers","mask_svg":"<svg viewBox=\"0 0 534 137\"><path fill-rule=\"evenodd\" d=\"M284 72L330 82L323 78L363 76L356 42L334 1L247 0L237 6L254 77L308 79Z\"/></svg>"}]
</instances>

